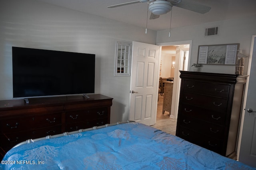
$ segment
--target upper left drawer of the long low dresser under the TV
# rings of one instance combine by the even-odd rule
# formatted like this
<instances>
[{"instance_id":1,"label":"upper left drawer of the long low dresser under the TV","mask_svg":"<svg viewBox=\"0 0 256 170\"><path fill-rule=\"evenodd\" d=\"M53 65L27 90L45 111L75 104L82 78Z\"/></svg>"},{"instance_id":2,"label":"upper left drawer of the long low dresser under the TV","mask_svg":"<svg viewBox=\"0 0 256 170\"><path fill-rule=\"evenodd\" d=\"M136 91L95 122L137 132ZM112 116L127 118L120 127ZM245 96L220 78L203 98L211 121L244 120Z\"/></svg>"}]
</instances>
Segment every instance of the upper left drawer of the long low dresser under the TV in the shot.
<instances>
[{"instance_id":1,"label":"upper left drawer of the long low dresser under the TV","mask_svg":"<svg viewBox=\"0 0 256 170\"><path fill-rule=\"evenodd\" d=\"M36 115L31 117L16 117L0 121L3 133L13 133L31 128L48 127L61 124L61 114Z\"/></svg>"}]
</instances>

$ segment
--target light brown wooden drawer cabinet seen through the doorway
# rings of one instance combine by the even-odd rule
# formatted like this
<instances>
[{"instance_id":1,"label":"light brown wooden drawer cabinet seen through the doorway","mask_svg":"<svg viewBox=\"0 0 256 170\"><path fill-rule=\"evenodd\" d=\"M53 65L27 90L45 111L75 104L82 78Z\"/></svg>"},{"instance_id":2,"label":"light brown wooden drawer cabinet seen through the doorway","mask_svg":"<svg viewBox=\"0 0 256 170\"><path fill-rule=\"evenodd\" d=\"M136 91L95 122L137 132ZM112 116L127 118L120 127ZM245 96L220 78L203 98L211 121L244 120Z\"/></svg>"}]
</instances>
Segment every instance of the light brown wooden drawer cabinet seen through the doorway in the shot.
<instances>
[{"instance_id":1,"label":"light brown wooden drawer cabinet seen through the doorway","mask_svg":"<svg viewBox=\"0 0 256 170\"><path fill-rule=\"evenodd\" d=\"M164 111L168 111L169 114L171 114L172 89L173 89L173 82L171 81L164 82L164 100L163 100L163 110L162 110L163 114L164 114Z\"/></svg>"}]
</instances>

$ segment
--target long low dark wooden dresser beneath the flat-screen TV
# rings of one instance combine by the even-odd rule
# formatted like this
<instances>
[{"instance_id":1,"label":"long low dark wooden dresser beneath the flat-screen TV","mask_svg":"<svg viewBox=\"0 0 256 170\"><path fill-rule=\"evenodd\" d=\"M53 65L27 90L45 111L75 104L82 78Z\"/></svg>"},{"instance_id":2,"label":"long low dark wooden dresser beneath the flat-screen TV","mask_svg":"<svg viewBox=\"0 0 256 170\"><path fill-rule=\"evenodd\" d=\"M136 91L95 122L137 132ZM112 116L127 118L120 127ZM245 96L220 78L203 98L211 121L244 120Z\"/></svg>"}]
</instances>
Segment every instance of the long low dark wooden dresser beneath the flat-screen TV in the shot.
<instances>
[{"instance_id":1,"label":"long low dark wooden dresser beneath the flat-screen TV","mask_svg":"<svg viewBox=\"0 0 256 170\"><path fill-rule=\"evenodd\" d=\"M14 145L110 123L112 98L100 94L0 101L0 159Z\"/></svg>"}]
</instances>

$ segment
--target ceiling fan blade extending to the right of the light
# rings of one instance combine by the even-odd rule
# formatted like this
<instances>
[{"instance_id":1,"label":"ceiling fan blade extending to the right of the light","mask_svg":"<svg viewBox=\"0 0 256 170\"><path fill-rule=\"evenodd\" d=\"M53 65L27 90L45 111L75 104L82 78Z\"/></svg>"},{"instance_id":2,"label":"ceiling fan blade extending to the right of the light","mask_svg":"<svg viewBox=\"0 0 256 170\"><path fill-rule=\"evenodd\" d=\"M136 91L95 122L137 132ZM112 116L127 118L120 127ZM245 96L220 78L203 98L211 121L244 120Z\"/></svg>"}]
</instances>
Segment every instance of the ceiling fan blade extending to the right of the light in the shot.
<instances>
[{"instance_id":1,"label":"ceiling fan blade extending to the right of the light","mask_svg":"<svg viewBox=\"0 0 256 170\"><path fill-rule=\"evenodd\" d=\"M211 9L211 7L209 6L204 6L202 4L191 2L191 0L182 0L176 6L180 8L184 8L186 10L194 11L200 14L205 14L206 12L209 12Z\"/></svg>"}]
</instances>

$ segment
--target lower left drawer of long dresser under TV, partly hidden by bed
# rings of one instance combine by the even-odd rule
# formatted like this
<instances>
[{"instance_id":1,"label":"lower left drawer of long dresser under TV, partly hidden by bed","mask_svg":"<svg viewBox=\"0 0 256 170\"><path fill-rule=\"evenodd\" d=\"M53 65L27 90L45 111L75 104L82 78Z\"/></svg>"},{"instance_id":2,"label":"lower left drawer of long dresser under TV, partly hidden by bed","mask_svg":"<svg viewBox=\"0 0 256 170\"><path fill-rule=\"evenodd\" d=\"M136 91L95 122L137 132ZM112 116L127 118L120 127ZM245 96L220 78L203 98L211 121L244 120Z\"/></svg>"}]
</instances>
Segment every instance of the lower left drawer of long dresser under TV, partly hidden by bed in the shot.
<instances>
[{"instance_id":1,"label":"lower left drawer of long dresser under TV, partly hidden by bed","mask_svg":"<svg viewBox=\"0 0 256 170\"><path fill-rule=\"evenodd\" d=\"M34 129L30 131L16 132L10 134L1 134L1 146L14 147L14 145L26 141L27 139L36 139L46 137L48 135L57 135L61 133L61 126L47 127L42 129Z\"/></svg>"}]
</instances>

